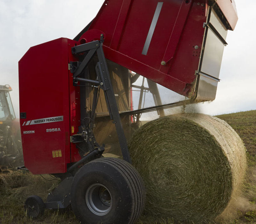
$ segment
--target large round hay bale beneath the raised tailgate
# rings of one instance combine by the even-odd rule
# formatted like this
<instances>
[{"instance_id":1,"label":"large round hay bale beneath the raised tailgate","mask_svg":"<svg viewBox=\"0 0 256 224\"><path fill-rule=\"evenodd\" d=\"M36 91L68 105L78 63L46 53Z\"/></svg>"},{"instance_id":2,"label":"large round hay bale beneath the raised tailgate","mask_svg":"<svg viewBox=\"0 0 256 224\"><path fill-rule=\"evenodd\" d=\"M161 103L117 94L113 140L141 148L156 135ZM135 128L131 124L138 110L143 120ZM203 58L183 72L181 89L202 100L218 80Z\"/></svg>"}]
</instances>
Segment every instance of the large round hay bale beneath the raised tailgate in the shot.
<instances>
[{"instance_id":1,"label":"large round hay bale beneath the raised tailgate","mask_svg":"<svg viewBox=\"0 0 256 224\"><path fill-rule=\"evenodd\" d=\"M211 220L244 178L245 148L223 120L182 114L153 120L128 141L146 186L145 211L175 220Z\"/></svg>"}]
</instances>

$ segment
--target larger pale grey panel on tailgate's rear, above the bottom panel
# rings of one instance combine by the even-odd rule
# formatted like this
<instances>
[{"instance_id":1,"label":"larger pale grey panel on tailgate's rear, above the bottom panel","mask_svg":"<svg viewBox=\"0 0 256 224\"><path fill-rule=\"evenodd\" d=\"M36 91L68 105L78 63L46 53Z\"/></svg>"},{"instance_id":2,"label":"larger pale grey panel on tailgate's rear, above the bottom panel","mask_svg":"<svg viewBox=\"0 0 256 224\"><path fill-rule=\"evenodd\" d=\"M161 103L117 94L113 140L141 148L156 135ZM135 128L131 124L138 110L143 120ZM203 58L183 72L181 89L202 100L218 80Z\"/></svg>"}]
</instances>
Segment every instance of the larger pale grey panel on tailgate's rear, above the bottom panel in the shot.
<instances>
[{"instance_id":1,"label":"larger pale grey panel on tailgate's rear, above the bottom panel","mask_svg":"<svg viewBox=\"0 0 256 224\"><path fill-rule=\"evenodd\" d=\"M208 29L201 71L219 78L223 51L224 44L222 44L219 38L210 29Z\"/></svg>"}]
</instances>

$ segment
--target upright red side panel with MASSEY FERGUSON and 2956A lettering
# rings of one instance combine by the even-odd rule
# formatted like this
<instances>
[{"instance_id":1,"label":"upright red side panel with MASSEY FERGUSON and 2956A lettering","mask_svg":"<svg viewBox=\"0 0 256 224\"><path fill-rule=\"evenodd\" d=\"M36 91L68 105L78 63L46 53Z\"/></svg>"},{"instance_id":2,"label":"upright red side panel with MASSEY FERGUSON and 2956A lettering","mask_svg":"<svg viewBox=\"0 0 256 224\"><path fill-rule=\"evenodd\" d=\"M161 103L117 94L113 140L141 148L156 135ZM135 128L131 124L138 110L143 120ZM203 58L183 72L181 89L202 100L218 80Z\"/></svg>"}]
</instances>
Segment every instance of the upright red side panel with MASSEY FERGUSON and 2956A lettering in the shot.
<instances>
[{"instance_id":1,"label":"upright red side panel with MASSEY FERGUSON and 2956A lettering","mask_svg":"<svg viewBox=\"0 0 256 224\"><path fill-rule=\"evenodd\" d=\"M68 70L74 43L59 38L40 44L19 61L20 112L26 112L26 119L20 119L23 155L34 174L66 172L66 164L80 158L75 145L70 158L71 127L77 132L80 123L78 93ZM32 124L57 116L63 116L63 121Z\"/></svg>"}]
</instances>

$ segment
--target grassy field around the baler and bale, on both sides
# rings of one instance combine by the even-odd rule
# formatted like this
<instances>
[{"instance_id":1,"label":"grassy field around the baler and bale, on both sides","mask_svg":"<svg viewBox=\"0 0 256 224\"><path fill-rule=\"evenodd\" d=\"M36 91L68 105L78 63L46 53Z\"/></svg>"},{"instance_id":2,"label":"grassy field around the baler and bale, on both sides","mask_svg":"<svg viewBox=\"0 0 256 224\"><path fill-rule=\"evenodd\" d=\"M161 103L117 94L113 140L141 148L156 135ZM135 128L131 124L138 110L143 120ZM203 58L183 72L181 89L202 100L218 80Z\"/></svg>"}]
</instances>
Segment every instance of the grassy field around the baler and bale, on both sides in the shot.
<instances>
[{"instance_id":1,"label":"grassy field around the baler and bale, on both sides","mask_svg":"<svg viewBox=\"0 0 256 224\"><path fill-rule=\"evenodd\" d=\"M237 204L228 214L229 220L222 219L210 223L256 223L256 110L234 114L220 115L220 119L230 124L244 141L247 149L248 170L242 194ZM26 216L24 201L36 194L46 199L59 180L50 175L32 175L28 172L14 171L0 174L0 223L79 223L72 211L45 210L38 220ZM153 214L143 214L138 223L178 223L162 220Z\"/></svg>"}]
</instances>

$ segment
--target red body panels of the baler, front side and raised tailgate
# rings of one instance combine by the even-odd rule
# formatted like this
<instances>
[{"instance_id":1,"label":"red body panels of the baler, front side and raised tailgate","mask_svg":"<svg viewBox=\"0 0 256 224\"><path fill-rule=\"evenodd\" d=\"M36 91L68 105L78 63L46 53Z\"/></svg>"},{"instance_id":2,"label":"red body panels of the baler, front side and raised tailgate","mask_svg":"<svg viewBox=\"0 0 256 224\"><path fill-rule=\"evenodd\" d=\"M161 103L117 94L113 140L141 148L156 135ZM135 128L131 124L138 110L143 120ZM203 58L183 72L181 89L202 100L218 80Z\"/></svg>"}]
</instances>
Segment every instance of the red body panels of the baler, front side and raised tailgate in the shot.
<instances>
[{"instance_id":1,"label":"red body panels of the baler, front side and raised tailgate","mask_svg":"<svg viewBox=\"0 0 256 224\"><path fill-rule=\"evenodd\" d=\"M219 7L223 2L229 26L220 22L218 29L225 33L234 29L237 16L235 11L230 13L234 7L229 0L217 1ZM75 38L77 41L59 38L31 47L19 61L20 112L25 114L20 119L25 166L34 174L65 173L67 164L81 159L76 145L70 143L70 136L78 132L81 124L79 87L73 85L69 70L70 61L78 59L71 53L71 47L98 40L101 34L105 38L106 59L184 96L213 100L220 64L216 74L203 71L200 74L207 3L205 0L105 1L88 30ZM223 48L221 45L216 50L220 61ZM213 49L206 49L208 56L215 53ZM215 68L214 63L213 60ZM200 89L200 85L204 87ZM130 91L130 86L127 88ZM196 88L201 92L197 94ZM207 91L211 88L209 95Z\"/></svg>"}]
</instances>

